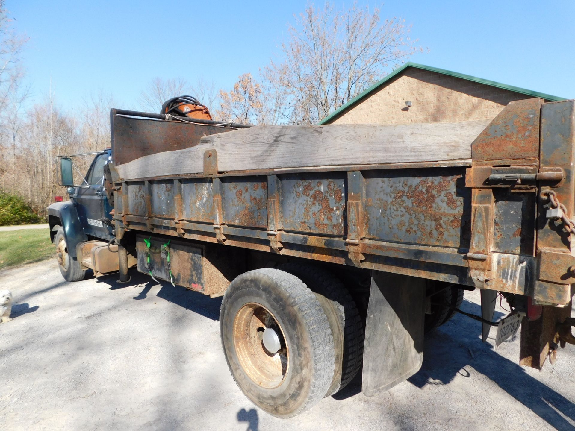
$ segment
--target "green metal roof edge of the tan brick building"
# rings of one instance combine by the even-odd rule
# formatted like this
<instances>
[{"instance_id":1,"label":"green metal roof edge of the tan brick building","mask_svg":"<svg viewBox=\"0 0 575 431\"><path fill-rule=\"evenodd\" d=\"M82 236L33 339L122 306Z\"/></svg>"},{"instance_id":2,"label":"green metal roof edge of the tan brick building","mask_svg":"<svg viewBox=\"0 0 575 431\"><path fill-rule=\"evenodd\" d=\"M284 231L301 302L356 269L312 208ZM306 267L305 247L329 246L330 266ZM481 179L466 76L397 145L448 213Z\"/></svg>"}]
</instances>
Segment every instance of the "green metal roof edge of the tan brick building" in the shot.
<instances>
[{"instance_id":1,"label":"green metal roof edge of the tan brick building","mask_svg":"<svg viewBox=\"0 0 575 431\"><path fill-rule=\"evenodd\" d=\"M525 95L528 95L531 97L540 97L540 98L545 99L545 100L550 101L550 102L558 102L558 101L565 100L564 97L558 97L558 96L552 96L550 94L539 93L539 91L531 91L531 90L527 90L526 88L520 88L520 87L515 87L512 85L502 84L500 82L490 81L489 79L477 78L477 76L460 74L458 72L440 69L438 67L425 66L425 64L411 63L411 61L410 61L409 63L405 63L403 66L397 68L396 70L391 72L389 75L386 75L384 79L382 79L378 83L373 84L373 86L367 88L367 90L363 91L363 93L356 95L353 99L351 99L345 105L340 106L338 109L336 109L331 114L329 114L327 117L325 117L323 120L321 120L319 122L319 124L325 124L328 121L333 120L333 118L338 117L339 114L341 114L344 110L348 109L351 106L354 106L356 103L361 102L363 99L369 97L371 92L373 92L377 88L384 85L390 79L393 79L395 76L401 74L401 72L403 72L408 67L415 67L415 68L427 70L430 72L437 72L438 74L455 76L455 78L467 79L467 80L470 80L473 82L478 82L480 84L485 84L485 85L489 85L489 86L497 87L497 88L503 88L503 90L514 91L515 93L525 94Z\"/></svg>"}]
</instances>

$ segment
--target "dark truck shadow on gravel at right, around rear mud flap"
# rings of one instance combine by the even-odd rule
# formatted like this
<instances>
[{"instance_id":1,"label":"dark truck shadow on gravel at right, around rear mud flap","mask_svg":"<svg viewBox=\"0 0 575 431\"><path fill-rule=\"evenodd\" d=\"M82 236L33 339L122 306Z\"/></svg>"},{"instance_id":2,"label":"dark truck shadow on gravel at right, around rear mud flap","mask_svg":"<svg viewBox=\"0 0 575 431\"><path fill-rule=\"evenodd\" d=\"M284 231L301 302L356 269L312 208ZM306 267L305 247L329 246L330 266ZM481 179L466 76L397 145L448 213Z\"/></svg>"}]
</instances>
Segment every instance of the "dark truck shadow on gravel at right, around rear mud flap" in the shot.
<instances>
[{"instance_id":1,"label":"dark truck shadow on gravel at right, around rear mud flap","mask_svg":"<svg viewBox=\"0 0 575 431\"><path fill-rule=\"evenodd\" d=\"M468 313L481 314L479 305L465 299L462 309ZM494 315L494 319L501 317L504 317L502 313ZM479 372L555 429L573 430L573 425L562 415L575 421L575 404L532 378L520 365L499 355L491 344L482 343L480 333L480 323L456 315L442 328L427 334L421 370L407 381L423 388L428 384L449 384L458 374L469 377L471 373ZM494 337L494 333L493 328L491 337ZM341 400L359 394L361 384L360 373L333 398Z\"/></svg>"}]
</instances>

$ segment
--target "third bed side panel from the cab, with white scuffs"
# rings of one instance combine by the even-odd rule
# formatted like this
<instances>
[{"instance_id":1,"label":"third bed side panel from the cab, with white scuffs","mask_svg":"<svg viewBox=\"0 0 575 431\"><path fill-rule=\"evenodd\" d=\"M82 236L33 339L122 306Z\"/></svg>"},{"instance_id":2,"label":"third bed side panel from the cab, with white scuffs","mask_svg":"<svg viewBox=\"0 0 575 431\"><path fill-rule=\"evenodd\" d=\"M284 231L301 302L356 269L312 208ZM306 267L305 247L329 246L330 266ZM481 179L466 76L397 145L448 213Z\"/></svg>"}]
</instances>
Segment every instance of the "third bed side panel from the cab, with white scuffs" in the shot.
<instances>
[{"instance_id":1,"label":"third bed side panel from the cab, with white scuffs","mask_svg":"<svg viewBox=\"0 0 575 431\"><path fill-rule=\"evenodd\" d=\"M182 218L212 223L213 186L210 178L182 179Z\"/></svg>"}]
</instances>

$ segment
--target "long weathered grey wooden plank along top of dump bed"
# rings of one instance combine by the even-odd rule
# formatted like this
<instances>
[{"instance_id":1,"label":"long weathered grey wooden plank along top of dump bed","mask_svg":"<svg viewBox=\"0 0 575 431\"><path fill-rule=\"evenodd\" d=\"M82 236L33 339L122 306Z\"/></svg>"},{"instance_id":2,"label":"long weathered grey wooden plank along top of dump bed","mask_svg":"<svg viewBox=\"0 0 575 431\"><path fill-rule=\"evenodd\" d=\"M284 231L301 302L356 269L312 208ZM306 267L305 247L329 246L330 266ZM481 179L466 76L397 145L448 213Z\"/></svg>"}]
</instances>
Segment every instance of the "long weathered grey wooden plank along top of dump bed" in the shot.
<instances>
[{"instance_id":1,"label":"long weathered grey wooden plank along top of dump bed","mask_svg":"<svg viewBox=\"0 0 575 431\"><path fill-rule=\"evenodd\" d=\"M143 156L116 168L122 179L201 174L206 149L217 151L219 172L462 160L471 157L471 143L489 122L255 126L206 136L196 147Z\"/></svg>"}]
</instances>

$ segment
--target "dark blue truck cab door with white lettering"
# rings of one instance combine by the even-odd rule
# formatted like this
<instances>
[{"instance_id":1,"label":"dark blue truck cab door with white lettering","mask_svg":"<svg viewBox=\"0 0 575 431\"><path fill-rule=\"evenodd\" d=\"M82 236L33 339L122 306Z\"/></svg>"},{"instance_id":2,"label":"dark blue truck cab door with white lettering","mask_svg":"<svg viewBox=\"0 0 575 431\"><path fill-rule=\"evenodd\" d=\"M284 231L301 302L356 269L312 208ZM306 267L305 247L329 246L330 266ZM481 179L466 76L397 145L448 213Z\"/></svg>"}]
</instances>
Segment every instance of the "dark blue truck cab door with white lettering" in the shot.
<instances>
[{"instance_id":1,"label":"dark blue truck cab door with white lettering","mask_svg":"<svg viewBox=\"0 0 575 431\"><path fill-rule=\"evenodd\" d=\"M97 155L86 175L87 187L78 190L78 216L87 235L104 240L112 238L112 226L106 224L109 211L112 210L104 191L104 166L108 163L110 153Z\"/></svg>"}]
</instances>

